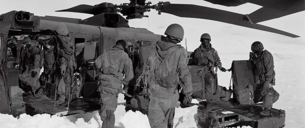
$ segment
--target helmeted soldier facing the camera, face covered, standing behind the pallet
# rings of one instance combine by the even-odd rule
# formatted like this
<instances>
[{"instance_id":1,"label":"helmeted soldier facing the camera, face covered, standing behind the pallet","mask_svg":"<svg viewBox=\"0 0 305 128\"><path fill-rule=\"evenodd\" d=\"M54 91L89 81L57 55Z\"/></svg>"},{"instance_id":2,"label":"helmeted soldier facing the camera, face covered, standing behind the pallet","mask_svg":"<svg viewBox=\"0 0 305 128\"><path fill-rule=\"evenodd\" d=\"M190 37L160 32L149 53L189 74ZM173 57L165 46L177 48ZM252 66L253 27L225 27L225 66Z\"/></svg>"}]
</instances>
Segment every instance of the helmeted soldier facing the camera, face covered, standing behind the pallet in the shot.
<instances>
[{"instance_id":1,"label":"helmeted soldier facing the camera, face covered, standing behind the pallet","mask_svg":"<svg viewBox=\"0 0 305 128\"><path fill-rule=\"evenodd\" d=\"M207 110L210 110L212 104L219 103L219 97L214 96L215 90L217 90L217 85L214 82L217 77L215 75L214 67L218 67L223 72L226 71L226 69L221 66L217 51L212 47L210 41L211 36L208 33L202 34L200 37L200 46L190 55L193 60L190 62L190 65L206 65L202 73L202 79L205 81L205 87L202 88L202 91L206 92Z\"/></svg>"}]
</instances>

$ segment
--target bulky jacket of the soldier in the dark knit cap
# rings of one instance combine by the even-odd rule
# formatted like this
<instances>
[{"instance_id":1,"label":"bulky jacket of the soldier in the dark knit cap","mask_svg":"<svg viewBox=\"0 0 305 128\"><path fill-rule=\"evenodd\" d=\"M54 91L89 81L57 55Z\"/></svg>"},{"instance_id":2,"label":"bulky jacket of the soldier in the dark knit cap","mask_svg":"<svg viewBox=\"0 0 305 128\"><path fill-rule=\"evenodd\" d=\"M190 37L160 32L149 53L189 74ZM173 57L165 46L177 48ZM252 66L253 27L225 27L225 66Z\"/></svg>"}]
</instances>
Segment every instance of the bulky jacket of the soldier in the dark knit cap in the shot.
<instances>
[{"instance_id":1,"label":"bulky jacket of the soldier in the dark knit cap","mask_svg":"<svg viewBox=\"0 0 305 128\"><path fill-rule=\"evenodd\" d=\"M128 85L134 78L132 61L121 45L101 54L94 62L95 67L100 69L99 79L102 86L121 90L122 84Z\"/></svg>"}]
</instances>

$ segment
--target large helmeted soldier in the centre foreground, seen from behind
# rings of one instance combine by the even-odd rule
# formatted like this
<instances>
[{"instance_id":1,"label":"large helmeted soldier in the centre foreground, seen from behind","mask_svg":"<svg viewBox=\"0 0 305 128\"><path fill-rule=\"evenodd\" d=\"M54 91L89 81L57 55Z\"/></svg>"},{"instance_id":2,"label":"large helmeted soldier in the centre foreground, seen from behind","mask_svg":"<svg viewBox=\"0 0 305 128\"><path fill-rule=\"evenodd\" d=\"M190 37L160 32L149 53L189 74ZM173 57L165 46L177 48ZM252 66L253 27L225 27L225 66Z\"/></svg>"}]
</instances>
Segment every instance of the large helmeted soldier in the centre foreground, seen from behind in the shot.
<instances>
[{"instance_id":1,"label":"large helmeted soldier in the centre foreground, seen from behind","mask_svg":"<svg viewBox=\"0 0 305 128\"><path fill-rule=\"evenodd\" d=\"M149 124L152 128L172 128L175 106L179 99L177 89L181 81L185 99L192 102L192 81L188 71L188 54L184 47L177 45L184 36L179 24L167 27L165 36L156 43L144 63L144 85L149 87Z\"/></svg>"}]
</instances>

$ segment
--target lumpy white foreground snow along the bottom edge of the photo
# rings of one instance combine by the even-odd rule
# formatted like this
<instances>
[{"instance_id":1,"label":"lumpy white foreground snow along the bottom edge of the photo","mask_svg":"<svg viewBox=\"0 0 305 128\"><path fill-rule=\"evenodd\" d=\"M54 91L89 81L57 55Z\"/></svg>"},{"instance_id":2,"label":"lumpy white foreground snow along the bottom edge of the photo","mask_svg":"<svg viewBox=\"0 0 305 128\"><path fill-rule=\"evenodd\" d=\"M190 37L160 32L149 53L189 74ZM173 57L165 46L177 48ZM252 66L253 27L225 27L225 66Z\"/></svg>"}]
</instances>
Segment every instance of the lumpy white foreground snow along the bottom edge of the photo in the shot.
<instances>
[{"instance_id":1,"label":"lumpy white foreground snow along the bottom edge of the photo","mask_svg":"<svg viewBox=\"0 0 305 128\"><path fill-rule=\"evenodd\" d=\"M179 103L174 115L175 128L201 128L197 123L197 107L181 109ZM118 105L115 114L115 128L150 128L148 117L139 111L131 110L125 113L125 106ZM1 128L100 128L102 120L98 111L75 114L70 116L56 116L37 114L29 116L21 114L19 118L12 115L0 114ZM240 128L240 127L237 127ZM243 126L242 128L251 128Z\"/></svg>"}]
</instances>

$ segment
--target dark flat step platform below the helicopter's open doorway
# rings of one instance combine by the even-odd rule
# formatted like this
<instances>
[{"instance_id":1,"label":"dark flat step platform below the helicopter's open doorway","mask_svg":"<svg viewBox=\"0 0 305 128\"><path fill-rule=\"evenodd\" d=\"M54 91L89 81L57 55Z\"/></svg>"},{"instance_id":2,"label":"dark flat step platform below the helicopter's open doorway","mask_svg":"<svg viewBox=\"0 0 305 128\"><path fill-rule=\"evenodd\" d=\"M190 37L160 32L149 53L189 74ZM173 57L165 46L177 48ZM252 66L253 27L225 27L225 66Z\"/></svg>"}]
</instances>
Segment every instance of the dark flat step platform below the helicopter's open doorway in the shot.
<instances>
[{"instance_id":1,"label":"dark flat step platform below the helicopter's open doorway","mask_svg":"<svg viewBox=\"0 0 305 128\"><path fill-rule=\"evenodd\" d=\"M101 105L96 99L77 98L69 103L70 111L66 106L54 105L47 99L31 99L23 97L26 104L26 114L34 116L36 114L50 114L65 116L77 113L85 113L99 110Z\"/></svg>"}]
</instances>

